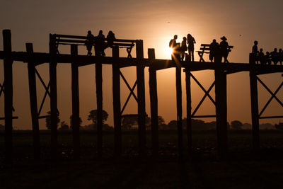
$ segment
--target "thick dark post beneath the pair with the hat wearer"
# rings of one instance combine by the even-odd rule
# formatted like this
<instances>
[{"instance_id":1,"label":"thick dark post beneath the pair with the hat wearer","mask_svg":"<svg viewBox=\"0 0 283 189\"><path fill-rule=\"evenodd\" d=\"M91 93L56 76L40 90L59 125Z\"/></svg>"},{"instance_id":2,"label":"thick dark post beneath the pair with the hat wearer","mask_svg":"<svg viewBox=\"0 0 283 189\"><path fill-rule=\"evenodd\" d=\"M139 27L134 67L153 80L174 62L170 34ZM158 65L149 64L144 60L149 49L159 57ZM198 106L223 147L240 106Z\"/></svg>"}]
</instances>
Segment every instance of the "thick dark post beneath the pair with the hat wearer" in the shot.
<instances>
[{"instance_id":1,"label":"thick dark post beneath the pair with the hat wearer","mask_svg":"<svg viewBox=\"0 0 283 189\"><path fill-rule=\"evenodd\" d=\"M215 68L215 102L216 102L216 132L219 157L226 158L227 154L227 84L226 73L222 64Z\"/></svg>"}]
</instances>

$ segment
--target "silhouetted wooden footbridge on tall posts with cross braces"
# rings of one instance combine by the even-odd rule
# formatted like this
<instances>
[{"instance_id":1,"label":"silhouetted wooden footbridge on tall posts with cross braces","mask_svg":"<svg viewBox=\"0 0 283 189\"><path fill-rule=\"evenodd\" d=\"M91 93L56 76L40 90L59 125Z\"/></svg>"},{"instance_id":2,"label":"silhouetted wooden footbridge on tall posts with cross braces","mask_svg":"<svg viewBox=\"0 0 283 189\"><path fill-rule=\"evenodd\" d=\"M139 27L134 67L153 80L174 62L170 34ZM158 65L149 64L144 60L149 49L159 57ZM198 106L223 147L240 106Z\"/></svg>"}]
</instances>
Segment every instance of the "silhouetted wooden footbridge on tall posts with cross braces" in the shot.
<instances>
[{"instance_id":1,"label":"silhouetted wooden footbridge on tall posts with cross braces","mask_svg":"<svg viewBox=\"0 0 283 189\"><path fill-rule=\"evenodd\" d=\"M154 157L158 156L158 98L156 88L156 71L175 67L175 81L176 81L176 100L177 100L177 122L178 122L178 154L180 158L183 157L183 129L182 129L182 90L181 90L181 74L182 69L185 72L185 86L186 86L186 105L187 105L187 151L192 152L192 118L216 118L217 130L217 149L219 156L224 158L227 153L227 100L226 100L226 75L233 74L239 71L249 71L250 73L250 98L251 98L251 112L253 124L253 147L258 149L260 147L259 136L259 119L263 118L283 118L283 116L262 117L262 113L270 104L272 98L283 106L283 103L277 98L276 94L282 87L282 84L273 93L259 78L260 74L270 74L276 72L283 72L283 66L279 65L262 65L255 64L255 60L250 55L250 62L243 63L221 63L221 62L182 62L173 61L171 59L156 59L154 49L148 50L148 59L144 58L144 47L142 40L114 40L112 46L112 57L98 57L78 55L78 45L84 45L86 37L74 35L51 35L50 34L50 52L41 53L33 52L33 44L26 44L26 52L12 52L11 50L11 31L3 30L4 50L0 51L0 59L4 59L4 82L1 84L1 92L4 93L5 117L5 145L6 145L6 161L12 161L12 125L13 119L13 75L12 64L14 61L25 62L28 64L28 82L30 91L30 110L33 124L33 147L35 159L40 159L40 133L38 120L40 118L51 119L51 154L52 158L57 156L57 64L71 64L71 91L72 91L72 118L73 118L73 141L74 141L74 158L80 157L80 135L79 135L79 67L88 64L96 64L96 98L98 110L98 156L102 156L103 149L103 88L102 88L102 64L112 65L112 96L113 96L113 115L114 115L114 137L115 137L115 156L120 156L122 149L122 132L121 132L121 103L120 103L120 76L125 81L129 88L130 94L135 96L138 104L138 132L139 132L139 154L141 157L146 156L146 111L145 111L145 87L144 87L144 68L149 67L149 93L150 93L150 107L151 107L151 141L152 154ZM107 41L107 40L105 40ZM59 45L70 45L71 54L59 54ZM119 57L119 48L124 47L127 50L127 57ZM133 47L136 50L136 57L132 57L131 52ZM49 63L50 82L45 84L38 73L36 66ZM133 87L127 84L127 80L122 75L120 68L123 67L137 67L137 81ZM206 90L200 81L197 81L192 71L200 70L214 70L215 81ZM35 77L38 76L42 85L45 87L45 96L42 100L50 96L50 115L40 115L42 110L42 103L40 110L37 107L37 89L35 84ZM191 99L191 79L202 88L205 95L197 105L195 110L192 110ZM270 101L259 113L258 108L258 81L267 91L272 95ZM137 96L134 94L134 87L137 86ZM215 86L215 100L209 95L209 92ZM16 91L17 92L17 91ZM128 98L129 98L128 97ZM202 105L205 98L210 98L216 107L216 115L195 115L198 108ZM128 101L128 100L127 100ZM127 101L125 105L127 105ZM125 105L122 109L125 108Z\"/></svg>"}]
</instances>

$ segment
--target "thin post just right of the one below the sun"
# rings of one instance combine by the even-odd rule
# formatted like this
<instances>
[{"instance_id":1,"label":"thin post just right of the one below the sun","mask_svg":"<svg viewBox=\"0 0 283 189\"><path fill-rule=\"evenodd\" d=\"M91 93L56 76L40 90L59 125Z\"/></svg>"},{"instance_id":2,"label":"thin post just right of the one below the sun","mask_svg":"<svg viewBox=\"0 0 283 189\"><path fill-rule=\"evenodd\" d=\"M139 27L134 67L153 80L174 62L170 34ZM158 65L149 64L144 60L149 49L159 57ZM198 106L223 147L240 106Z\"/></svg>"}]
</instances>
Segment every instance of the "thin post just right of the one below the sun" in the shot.
<instances>
[{"instance_id":1,"label":"thin post just right of the one below the sun","mask_svg":"<svg viewBox=\"0 0 283 189\"><path fill-rule=\"evenodd\" d=\"M185 69L185 83L187 96L187 152L192 154L192 96L190 88L190 70Z\"/></svg>"}]
</instances>

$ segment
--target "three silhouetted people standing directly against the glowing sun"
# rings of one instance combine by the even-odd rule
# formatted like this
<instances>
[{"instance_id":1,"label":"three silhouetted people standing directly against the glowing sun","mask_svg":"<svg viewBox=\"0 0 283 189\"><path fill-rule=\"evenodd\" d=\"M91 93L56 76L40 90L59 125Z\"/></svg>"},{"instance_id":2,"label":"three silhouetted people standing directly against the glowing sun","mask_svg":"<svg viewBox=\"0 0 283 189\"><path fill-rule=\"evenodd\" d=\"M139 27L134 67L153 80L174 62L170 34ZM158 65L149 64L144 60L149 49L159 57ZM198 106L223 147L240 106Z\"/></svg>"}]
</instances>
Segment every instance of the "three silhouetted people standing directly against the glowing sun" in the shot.
<instances>
[{"instance_id":1,"label":"three silhouetted people standing directly against the glowing sun","mask_svg":"<svg viewBox=\"0 0 283 189\"><path fill-rule=\"evenodd\" d=\"M187 34L187 38L183 37L183 41L176 42L178 39L178 35L174 35L174 38L170 40L169 47L173 49L172 52L172 59L175 57L179 60L185 59L185 52L188 50L188 56L191 59L191 61L194 60L194 50L195 50L195 38L192 37L192 35Z\"/></svg>"}]
</instances>

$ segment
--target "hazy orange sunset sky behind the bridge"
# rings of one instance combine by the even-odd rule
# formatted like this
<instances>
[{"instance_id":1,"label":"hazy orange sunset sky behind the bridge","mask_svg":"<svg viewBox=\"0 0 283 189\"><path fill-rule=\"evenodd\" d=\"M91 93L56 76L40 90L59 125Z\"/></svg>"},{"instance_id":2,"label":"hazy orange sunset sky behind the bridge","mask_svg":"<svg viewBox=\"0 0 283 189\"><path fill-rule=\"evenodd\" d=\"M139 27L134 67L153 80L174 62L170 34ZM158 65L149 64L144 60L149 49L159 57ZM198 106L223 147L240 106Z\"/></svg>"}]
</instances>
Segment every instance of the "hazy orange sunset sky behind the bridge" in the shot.
<instances>
[{"instance_id":1,"label":"hazy orange sunset sky behind the bridge","mask_svg":"<svg viewBox=\"0 0 283 189\"><path fill-rule=\"evenodd\" d=\"M116 38L144 40L144 56L147 48L155 48L156 58L170 59L168 42L173 35L178 35L180 41L187 33L191 33L198 50L201 43L209 43L214 38L220 41L225 35L234 48L229 55L230 62L248 62L248 53L254 40L259 41L259 47L264 51L272 51L274 47L283 47L282 25L283 1L238 0L238 1L20 1L0 0L0 29L11 29L12 49L25 51L25 42L33 42L35 52L48 52L50 33L86 35L92 30L96 35L102 29L105 34L112 30ZM0 49L3 50L2 36ZM69 47L60 48L60 52L69 53ZM79 49L84 55L84 47ZM120 50L125 56L125 50ZM107 51L110 56L110 52ZM197 53L195 53L197 58ZM207 59L207 57L206 57ZM2 61L1 61L2 63ZM43 64L38 70L48 80L48 65ZM71 115L71 67L60 64L57 69L58 108L60 118L69 123ZM79 68L80 79L80 111L83 125L87 121L87 113L96 109L96 85L94 65ZM122 69L131 84L135 81L135 68ZM3 66L0 67L0 81L3 81ZM148 69L146 73L146 113L150 115ZM193 74L208 88L214 80L213 71L195 71ZM185 117L185 76L183 75L183 116ZM275 91L282 82L281 74L260 76ZM15 126L30 129L30 108L28 97L28 74L26 64L13 64ZM247 72L231 74L228 79L228 120L250 122L250 88ZM38 87L38 103L43 96L43 88ZM103 66L103 105L109 114L108 124L112 125L112 71L111 67ZM128 91L121 80L121 102L125 102ZM270 95L259 84L260 110ZM283 91L283 90L282 90ZM283 93L279 91L279 98ZM214 89L212 90L214 96ZM204 93L192 84L193 108ZM0 99L3 116L4 98ZM267 108L265 115L282 115L282 108L276 101ZM132 99L125 113L137 113L137 105ZM44 112L49 110L49 101ZM175 70L158 71L158 114L166 122L175 120ZM209 99L198 115L212 115L215 108ZM214 119L207 119L214 120ZM278 120L264 120L278 122ZM40 128L45 128L45 121L40 122Z\"/></svg>"}]
</instances>

